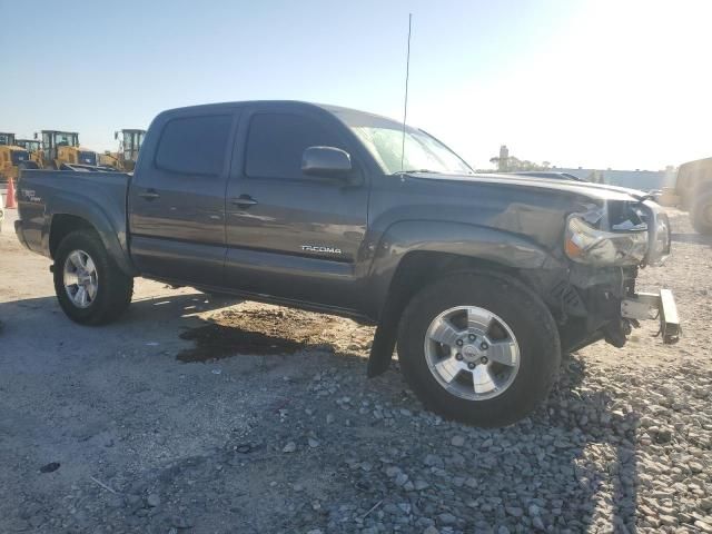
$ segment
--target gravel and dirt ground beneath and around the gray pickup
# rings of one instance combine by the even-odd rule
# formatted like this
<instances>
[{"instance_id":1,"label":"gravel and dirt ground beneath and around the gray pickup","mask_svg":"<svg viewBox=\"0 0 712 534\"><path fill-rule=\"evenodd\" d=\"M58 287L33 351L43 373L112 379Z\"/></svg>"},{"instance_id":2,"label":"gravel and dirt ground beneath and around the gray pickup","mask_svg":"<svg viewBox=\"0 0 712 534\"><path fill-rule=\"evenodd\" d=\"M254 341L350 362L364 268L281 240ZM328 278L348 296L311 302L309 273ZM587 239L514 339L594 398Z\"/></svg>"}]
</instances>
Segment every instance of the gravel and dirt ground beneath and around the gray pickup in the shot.
<instances>
[{"instance_id":1,"label":"gravel and dirt ground beneath and around the gray pickup","mask_svg":"<svg viewBox=\"0 0 712 534\"><path fill-rule=\"evenodd\" d=\"M564 359L523 422L423 411L372 329L139 281L100 329L70 324L47 260L0 236L0 532L712 532L712 240L673 212L640 288L655 325Z\"/></svg>"}]
</instances>

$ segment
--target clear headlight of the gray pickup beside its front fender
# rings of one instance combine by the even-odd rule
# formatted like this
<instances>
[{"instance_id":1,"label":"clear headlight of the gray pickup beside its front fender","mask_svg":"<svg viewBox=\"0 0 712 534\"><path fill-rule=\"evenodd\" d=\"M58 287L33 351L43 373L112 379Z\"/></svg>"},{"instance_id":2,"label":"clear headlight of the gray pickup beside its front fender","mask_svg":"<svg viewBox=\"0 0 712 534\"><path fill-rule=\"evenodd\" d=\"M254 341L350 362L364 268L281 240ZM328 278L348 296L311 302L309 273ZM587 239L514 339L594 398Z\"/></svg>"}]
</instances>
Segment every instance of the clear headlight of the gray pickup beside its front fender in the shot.
<instances>
[{"instance_id":1,"label":"clear headlight of the gray pickup beside its front fender","mask_svg":"<svg viewBox=\"0 0 712 534\"><path fill-rule=\"evenodd\" d=\"M564 249L574 261L589 265L637 265L647 251L647 229L599 230L577 215L568 217Z\"/></svg>"}]
</instances>

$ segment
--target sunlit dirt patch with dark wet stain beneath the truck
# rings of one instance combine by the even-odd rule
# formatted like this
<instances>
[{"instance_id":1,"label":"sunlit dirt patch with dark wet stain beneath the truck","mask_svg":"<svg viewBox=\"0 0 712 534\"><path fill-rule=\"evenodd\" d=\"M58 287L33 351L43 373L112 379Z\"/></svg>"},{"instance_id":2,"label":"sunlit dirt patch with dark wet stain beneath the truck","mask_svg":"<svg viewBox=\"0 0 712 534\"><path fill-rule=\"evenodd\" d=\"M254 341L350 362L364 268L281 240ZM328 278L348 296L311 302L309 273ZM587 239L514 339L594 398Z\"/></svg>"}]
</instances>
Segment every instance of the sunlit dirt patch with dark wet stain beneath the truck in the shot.
<instances>
[{"instance_id":1,"label":"sunlit dirt patch with dark wet stain beneath the truck","mask_svg":"<svg viewBox=\"0 0 712 534\"><path fill-rule=\"evenodd\" d=\"M294 354L365 349L373 329L354 322L277 306L240 305L215 316L205 326L180 334L195 347L181 350L180 362L208 362L235 355ZM345 336L346 334L346 336ZM349 342L344 346L344 338Z\"/></svg>"}]
</instances>

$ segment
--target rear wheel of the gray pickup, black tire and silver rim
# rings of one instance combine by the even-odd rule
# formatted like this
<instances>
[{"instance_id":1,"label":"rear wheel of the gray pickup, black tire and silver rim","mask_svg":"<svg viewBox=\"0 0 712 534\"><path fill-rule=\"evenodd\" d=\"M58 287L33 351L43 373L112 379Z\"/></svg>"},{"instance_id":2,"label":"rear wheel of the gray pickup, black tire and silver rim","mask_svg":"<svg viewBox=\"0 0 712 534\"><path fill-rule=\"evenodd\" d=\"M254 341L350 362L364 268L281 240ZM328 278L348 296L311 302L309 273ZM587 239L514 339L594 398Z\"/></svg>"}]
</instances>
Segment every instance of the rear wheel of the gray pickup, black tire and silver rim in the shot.
<instances>
[{"instance_id":1,"label":"rear wheel of the gray pickup, black tire and silver rim","mask_svg":"<svg viewBox=\"0 0 712 534\"><path fill-rule=\"evenodd\" d=\"M77 261L76 258L78 256L75 253L79 254L79 261ZM66 269L75 269L76 274L76 265L82 263L82 255L86 255L91 260L91 264L83 261L90 266L82 271L85 281L92 279L97 283L93 296L91 296L89 289L85 289L85 306L76 303L70 296L70 293L75 293L76 296L79 294L79 281L76 285L71 285L69 289L66 287L66 281L73 279L72 274L69 274L66 280ZM75 259L73 261L70 256ZM95 273L93 277L86 275L86 273L92 270ZM53 275L55 293L59 305L71 320L80 325L105 325L110 323L119 317L131 303L134 278L119 269L93 230L75 230L61 240L55 254ZM81 277L77 276L76 278L80 280ZM77 298L81 299L80 297Z\"/></svg>"}]
</instances>

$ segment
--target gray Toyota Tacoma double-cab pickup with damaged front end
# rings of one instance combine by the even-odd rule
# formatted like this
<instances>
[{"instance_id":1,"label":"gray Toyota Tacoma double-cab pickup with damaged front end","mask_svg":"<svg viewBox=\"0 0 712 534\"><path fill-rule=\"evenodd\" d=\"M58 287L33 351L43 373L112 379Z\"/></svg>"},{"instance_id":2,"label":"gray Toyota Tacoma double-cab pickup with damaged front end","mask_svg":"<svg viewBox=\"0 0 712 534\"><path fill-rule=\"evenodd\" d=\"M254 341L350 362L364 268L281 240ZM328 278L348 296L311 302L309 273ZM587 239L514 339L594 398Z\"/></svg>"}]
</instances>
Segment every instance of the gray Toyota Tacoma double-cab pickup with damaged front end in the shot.
<instances>
[{"instance_id":1,"label":"gray Toyota Tacoma double-cab pickup with damaged front end","mask_svg":"<svg viewBox=\"0 0 712 534\"><path fill-rule=\"evenodd\" d=\"M404 147L404 150L403 150ZM160 113L135 174L22 172L17 235L53 260L75 322L118 317L142 276L377 325L426 407L483 426L528 414L561 354L620 347L672 294L640 294L670 225L640 191L475 175L433 136L288 101ZM284 325L285 329L289 325Z\"/></svg>"}]
</instances>

